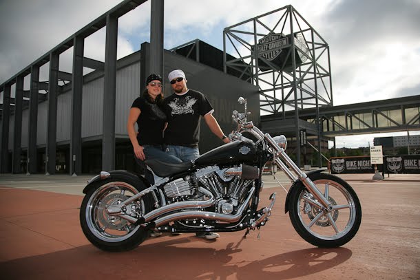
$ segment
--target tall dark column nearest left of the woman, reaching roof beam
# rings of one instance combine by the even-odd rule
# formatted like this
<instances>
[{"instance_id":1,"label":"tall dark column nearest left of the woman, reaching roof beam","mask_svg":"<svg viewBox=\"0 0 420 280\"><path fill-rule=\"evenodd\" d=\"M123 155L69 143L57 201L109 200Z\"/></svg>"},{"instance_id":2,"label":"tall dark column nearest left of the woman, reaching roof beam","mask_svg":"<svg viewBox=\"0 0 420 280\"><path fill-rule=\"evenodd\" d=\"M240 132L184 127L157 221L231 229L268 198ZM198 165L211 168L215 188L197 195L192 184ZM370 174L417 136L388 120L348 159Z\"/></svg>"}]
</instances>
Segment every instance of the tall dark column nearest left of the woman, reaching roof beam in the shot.
<instances>
[{"instance_id":1,"label":"tall dark column nearest left of the woman, reaching roof beam","mask_svg":"<svg viewBox=\"0 0 420 280\"><path fill-rule=\"evenodd\" d=\"M118 18L107 15L103 95L102 169L115 169L116 50Z\"/></svg>"}]
</instances>

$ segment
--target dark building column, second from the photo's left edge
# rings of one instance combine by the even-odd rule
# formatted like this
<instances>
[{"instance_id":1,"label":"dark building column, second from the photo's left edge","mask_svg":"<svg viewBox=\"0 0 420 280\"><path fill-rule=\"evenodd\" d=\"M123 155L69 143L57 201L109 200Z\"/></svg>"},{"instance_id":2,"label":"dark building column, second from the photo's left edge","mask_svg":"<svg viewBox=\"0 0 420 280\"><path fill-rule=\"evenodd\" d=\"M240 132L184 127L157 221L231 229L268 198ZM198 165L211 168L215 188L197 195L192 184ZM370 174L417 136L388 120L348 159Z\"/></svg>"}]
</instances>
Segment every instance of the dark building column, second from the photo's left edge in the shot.
<instances>
[{"instance_id":1,"label":"dark building column, second from the photo's left edge","mask_svg":"<svg viewBox=\"0 0 420 280\"><path fill-rule=\"evenodd\" d=\"M23 110L23 76L17 76L16 89L14 93L14 137L12 173L21 173L22 153L22 110Z\"/></svg>"}]
</instances>

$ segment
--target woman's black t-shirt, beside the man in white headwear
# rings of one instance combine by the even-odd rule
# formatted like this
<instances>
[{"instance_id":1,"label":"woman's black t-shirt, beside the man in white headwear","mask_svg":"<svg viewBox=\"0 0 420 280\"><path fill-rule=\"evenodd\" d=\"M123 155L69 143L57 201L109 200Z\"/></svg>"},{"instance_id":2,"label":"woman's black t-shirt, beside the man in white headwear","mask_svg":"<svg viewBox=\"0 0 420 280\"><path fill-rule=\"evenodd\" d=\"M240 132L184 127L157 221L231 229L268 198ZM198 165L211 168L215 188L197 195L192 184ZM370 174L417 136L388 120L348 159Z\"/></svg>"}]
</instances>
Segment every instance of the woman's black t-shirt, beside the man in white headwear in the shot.
<instances>
[{"instance_id":1,"label":"woman's black t-shirt, beside the man in white headwear","mask_svg":"<svg viewBox=\"0 0 420 280\"><path fill-rule=\"evenodd\" d=\"M138 144L163 144L163 127L167 119L162 109L143 97L134 100L132 108L140 109L140 116L137 119Z\"/></svg>"}]
</instances>

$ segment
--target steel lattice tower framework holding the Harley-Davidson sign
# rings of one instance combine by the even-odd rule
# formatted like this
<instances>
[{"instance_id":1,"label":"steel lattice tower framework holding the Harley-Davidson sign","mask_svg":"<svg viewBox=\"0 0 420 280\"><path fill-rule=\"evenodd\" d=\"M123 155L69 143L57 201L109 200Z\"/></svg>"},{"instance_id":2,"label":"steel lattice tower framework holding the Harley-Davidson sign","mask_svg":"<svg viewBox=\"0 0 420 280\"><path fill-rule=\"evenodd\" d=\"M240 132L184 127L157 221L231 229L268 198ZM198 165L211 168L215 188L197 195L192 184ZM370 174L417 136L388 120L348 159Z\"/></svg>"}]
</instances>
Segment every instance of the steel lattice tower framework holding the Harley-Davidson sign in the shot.
<instances>
[{"instance_id":1,"label":"steel lattice tower framework holding the Harley-Davidson sign","mask_svg":"<svg viewBox=\"0 0 420 280\"><path fill-rule=\"evenodd\" d=\"M262 115L284 119L286 111L295 111L297 143L299 111L333 105L328 43L293 6L225 28L223 49L224 72L239 72L259 87ZM314 121L320 143L319 112ZM300 165L300 145L296 154Z\"/></svg>"}]
</instances>

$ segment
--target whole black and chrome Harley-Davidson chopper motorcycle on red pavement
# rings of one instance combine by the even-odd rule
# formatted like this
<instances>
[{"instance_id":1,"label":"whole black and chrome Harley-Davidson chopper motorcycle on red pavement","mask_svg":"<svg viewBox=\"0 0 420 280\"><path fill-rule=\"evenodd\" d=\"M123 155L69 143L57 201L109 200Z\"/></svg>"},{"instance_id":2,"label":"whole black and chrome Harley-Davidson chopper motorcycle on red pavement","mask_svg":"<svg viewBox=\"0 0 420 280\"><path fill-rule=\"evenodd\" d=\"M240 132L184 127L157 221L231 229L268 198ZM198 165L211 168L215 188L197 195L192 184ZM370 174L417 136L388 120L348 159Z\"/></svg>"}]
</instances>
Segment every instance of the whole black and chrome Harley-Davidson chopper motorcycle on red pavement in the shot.
<instances>
[{"instance_id":1,"label":"whole black and chrome Harley-Davidson chopper motorcycle on red pavement","mask_svg":"<svg viewBox=\"0 0 420 280\"><path fill-rule=\"evenodd\" d=\"M285 213L297 233L322 248L346 244L361 224L361 206L351 186L323 173L304 173L288 157L284 136L271 137L233 111L238 124L231 142L193 162L168 164L145 160L142 175L102 171L83 189L80 222L94 246L132 250L150 233L206 233L254 230L265 226L275 204L258 209L262 171L271 162L291 179ZM248 137L243 136L245 134ZM279 182L280 183L280 182Z\"/></svg>"}]
</instances>

